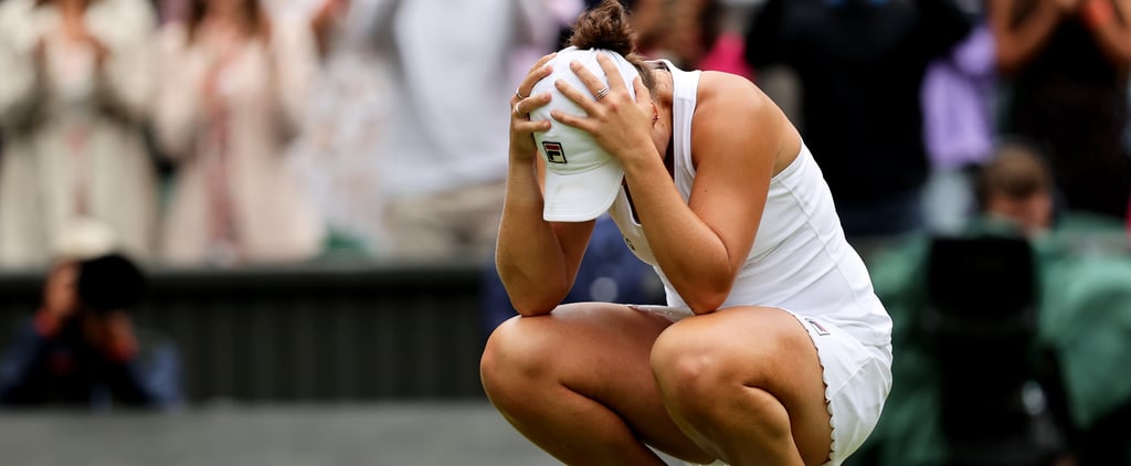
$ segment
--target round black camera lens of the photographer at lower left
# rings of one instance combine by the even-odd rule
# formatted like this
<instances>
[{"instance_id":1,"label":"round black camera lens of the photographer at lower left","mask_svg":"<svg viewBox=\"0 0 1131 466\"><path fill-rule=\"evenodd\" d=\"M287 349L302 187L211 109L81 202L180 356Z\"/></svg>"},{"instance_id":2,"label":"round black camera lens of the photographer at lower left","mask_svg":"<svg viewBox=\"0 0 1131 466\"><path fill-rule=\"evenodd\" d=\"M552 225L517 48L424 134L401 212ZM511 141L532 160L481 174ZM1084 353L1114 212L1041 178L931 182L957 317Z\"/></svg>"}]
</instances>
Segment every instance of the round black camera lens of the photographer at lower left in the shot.
<instances>
[{"instance_id":1,"label":"round black camera lens of the photographer at lower left","mask_svg":"<svg viewBox=\"0 0 1131 466\"><path fill-rule=\"evenodd\" d=\"M95 312L129 310L146 294L146 279L126 256L111 253L87 259L78 267L78 297Z\"/></svg>"}]
</instances>

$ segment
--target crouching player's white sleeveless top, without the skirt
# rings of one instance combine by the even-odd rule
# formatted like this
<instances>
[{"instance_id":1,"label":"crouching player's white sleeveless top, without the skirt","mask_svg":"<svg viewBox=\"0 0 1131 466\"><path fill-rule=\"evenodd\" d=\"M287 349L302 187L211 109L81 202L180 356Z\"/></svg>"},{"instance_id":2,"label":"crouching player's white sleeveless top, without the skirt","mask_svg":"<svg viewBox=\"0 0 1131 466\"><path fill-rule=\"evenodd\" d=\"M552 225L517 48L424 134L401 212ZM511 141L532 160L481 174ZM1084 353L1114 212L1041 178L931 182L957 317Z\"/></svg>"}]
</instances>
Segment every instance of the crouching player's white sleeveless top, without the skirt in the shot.
<instances>
[{"instance_id":1,"label":"crouching player's white sleeveless top, without the skirt","mask_svg":"<svg viewBox=\"0 0 1131 466\"><path fill-rule=\"evenodd\" d=\"M667 61L664 64L673 81L675 187L685 201L696 179L691 119L701 71L682 71ZM623 188L608 213L629 249L656 268L667 304L688 308L657 266ZM845 239L829 187L804 145L797 158L770 180L753 248L723 303L723 308L735 305L766 305L820 317L864 344L887 345L891 340L891 318L872 290L864 261Z\"/></svg>"}]
</instances>

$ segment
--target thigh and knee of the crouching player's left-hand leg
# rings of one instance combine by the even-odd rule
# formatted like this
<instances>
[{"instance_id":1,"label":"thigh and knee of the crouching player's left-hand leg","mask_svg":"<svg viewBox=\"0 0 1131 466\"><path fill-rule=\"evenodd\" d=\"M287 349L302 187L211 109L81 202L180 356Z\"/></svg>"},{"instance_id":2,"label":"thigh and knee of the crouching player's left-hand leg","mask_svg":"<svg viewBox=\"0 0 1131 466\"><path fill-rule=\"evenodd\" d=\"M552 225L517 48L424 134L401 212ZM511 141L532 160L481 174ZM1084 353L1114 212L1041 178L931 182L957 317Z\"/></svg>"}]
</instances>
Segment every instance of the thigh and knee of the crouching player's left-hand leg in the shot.
<instances>
[{"instance_id":1,"label":"thigh and knee of the crouching player's left-hand leg","mask_svg":"<svg viewBox=\"0 0 1131 466\"><path fill-rule=\"evenodd\" d=\"M706 458L667 415L649 365L667 317L621 304L563 304L516 317L487 340L484 388L508 416L537 416L538 398L561 385L615 412L644 442L683 458Z\"/></svg>"}]
</instances>

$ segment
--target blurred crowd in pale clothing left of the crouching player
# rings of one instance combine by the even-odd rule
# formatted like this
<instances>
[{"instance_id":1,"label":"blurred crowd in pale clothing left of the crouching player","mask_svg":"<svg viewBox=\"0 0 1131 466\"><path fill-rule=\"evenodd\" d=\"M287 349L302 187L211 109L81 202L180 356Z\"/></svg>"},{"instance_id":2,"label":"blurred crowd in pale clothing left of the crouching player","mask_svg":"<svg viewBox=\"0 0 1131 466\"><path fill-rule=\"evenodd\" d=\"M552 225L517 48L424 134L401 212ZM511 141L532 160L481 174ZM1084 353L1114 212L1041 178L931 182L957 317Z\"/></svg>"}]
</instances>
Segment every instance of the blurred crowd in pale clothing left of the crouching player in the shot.
<instances>
[{"instance_id":1,"label":"blurred crowd in pale clothing left of the crouching player","mask_svg":"<svg viewBox=\"0 0 1131 466\"><path fill-rule=\"evenodd\" d=\"M0 267L84 221L171 266L483 252L556 3L3 0Z\"/></svg>"}]
</instances>

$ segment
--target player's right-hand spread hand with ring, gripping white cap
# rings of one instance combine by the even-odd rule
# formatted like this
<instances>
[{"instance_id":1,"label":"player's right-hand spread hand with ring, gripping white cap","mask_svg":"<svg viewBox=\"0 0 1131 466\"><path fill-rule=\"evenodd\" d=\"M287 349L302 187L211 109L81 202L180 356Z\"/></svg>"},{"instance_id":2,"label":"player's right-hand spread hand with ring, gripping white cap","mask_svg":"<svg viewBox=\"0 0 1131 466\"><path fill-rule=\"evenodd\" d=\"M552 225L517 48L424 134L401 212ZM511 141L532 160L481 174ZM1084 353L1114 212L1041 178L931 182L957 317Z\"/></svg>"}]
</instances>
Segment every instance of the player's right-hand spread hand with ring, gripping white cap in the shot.
<instances>
[{"instance_id":1,"label":"player's right-hand spread hand with ring, gripping white cap","mask_svg":"<svg viewBox=\"0 0 1131 466\"><path fill-rule=\"evenodd\" d=\"M655 121L653 118L655 109L648 88L640 77L633 79L632 87L636 92L633 101L616 64L604 54L597 55L597 62L608 79L607 88L604 81L580 62L570 63L570 69L581 83L585 83L589 93L599 96L597 100L570 87L563 80L554 83L558 90L577 103L586 114L570 115L554 110L550 115L563 124L588 132L602 149L620 158L622 163L628 163L637 156L654 157L656 149L651 139L651 123Z\"/></svg>"}]
</instances>

